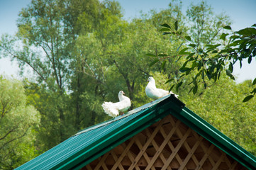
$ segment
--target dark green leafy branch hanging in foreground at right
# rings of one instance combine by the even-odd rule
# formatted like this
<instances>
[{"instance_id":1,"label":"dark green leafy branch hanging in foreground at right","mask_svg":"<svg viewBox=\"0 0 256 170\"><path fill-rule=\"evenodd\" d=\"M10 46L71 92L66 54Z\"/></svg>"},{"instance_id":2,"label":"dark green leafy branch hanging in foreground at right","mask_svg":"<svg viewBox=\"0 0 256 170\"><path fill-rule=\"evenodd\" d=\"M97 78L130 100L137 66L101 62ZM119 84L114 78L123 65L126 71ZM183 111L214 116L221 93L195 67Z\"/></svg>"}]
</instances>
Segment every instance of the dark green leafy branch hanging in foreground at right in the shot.
<instances>
[{"instance_id":1,"label":"dark green leafy branch hanging in foreground at right","mask_svg":"<svg viewBox=\"0 0 256 170\"><path fill-rule=\"evenodd\" d=\"M167 23L161 25L160 31L163 31L163 35L177 35L178 38L182 38L186 42L186 46L182 50L177 49L177 57L179 60L181 57L186 57L182 67L179 71L182 73L178 78L176 89L178 90L182 86L184 78L188 75L192 75L193 81L189 84L193 84L190 91L196 94L199 86L199 82L204 84L204 88L207 87L206 78L214 80L215 82L220 78L221 73L225 72L230 79L235 80L233 77L233 65L236 62L240 63L242 67L242 61L247 59L250 64L252 58L256 55L256 24L250 28L235 31L234 33L222 33L216 44L205 45L204 48L199 47L191 42L191 37L183 36L179 33L177 21L174 23L174 29ZM225 30L231 30L230 26L223 27ZM230 32L230 31L229 31ZM227 44L225 44L227 42ZM149 54L150 55L150 54ZM173 56L172 56L173 57ZM166 58L166 57L165 57ZM157 57L150 66L158 61L165 60L165 58ZM172 80L168 80L167 83ZM256 78L252 81L252 86L256 84ZM174 88L171 86L170 91ZM189 92L190 92L189 91ZM252 87L250 95L243 99L243 102L249 101L256 94L256 88Z\"/></svg>"}]
</instances>

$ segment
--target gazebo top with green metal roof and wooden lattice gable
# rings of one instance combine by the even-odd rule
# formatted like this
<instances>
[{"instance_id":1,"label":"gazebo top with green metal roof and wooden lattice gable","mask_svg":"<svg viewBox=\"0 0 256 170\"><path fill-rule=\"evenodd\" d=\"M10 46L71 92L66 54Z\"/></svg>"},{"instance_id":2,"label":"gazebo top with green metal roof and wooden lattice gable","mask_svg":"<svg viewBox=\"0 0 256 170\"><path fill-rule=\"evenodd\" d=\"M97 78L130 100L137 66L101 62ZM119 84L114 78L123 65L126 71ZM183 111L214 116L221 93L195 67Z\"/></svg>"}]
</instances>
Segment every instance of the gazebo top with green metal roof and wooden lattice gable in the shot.
<instances>
[{"instance_id":1,"label":"gazebo top with green metal roof and wooden lattice gable","mask_svg":"<svg viewBox=\"0 0 256 170\"><path fill-rule=\"evenodd\" d=\"M78 132L18 169L256 169L256 158L174 96Z\"/></svg>"}]
</instances>

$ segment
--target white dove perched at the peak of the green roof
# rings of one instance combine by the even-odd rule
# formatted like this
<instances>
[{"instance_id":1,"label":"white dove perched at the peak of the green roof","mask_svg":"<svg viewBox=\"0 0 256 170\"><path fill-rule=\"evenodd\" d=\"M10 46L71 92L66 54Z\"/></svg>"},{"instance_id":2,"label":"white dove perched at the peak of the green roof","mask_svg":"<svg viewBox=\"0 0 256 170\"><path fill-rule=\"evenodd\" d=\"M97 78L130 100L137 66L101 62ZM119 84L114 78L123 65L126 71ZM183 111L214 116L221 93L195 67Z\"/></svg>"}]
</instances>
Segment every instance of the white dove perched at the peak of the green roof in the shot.
<instances>
[{"instance_id":1,"label":"white dove perched at the peak of the green roof","mask_svg":"<svg viewBox=\"0 0 256 170\"><path fill-rule=\"evenodd\" d=\"M157 98L162 98L163 96L167 96L168 94L174 94L172 91L166 91L163 89L157 89L155 86L155 79L153 77L148 77L148 85L146 86L145 92L148 97L152 98L153 100L156 100ZM178 97L178 95L174 94L175 97Z\"/></svg>"}]
</instances>

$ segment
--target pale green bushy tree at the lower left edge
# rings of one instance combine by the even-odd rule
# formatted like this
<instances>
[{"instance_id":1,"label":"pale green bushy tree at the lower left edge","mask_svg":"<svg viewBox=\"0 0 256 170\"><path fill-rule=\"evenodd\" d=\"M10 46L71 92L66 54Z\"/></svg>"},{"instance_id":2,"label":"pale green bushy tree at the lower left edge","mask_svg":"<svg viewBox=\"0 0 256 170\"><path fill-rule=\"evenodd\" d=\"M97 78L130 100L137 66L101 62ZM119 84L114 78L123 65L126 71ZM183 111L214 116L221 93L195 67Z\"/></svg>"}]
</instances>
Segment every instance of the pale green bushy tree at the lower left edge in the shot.
<instances>
[{"instance_id":1,"label":"pale green bushy tree at the lower left edge","mask_svg":"<svg viewBox=\"0 0 256 170\"><path fill-rule=\"evenodd\" d=\"M40 114L27 105L21 82L0 77L0 169L14 169L36 156Z\"/></svg>"}]
</instances>

